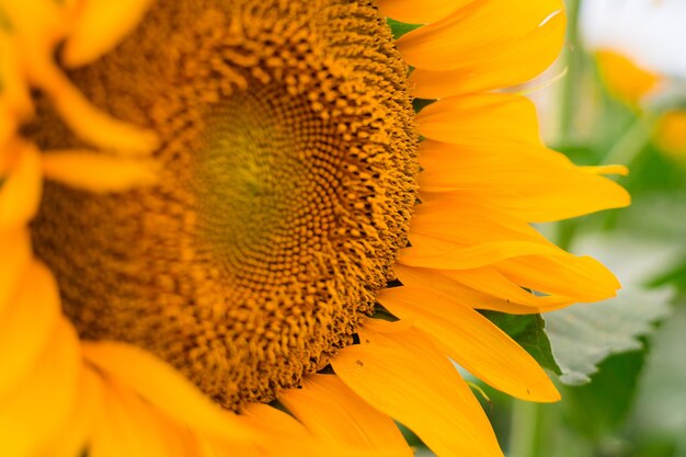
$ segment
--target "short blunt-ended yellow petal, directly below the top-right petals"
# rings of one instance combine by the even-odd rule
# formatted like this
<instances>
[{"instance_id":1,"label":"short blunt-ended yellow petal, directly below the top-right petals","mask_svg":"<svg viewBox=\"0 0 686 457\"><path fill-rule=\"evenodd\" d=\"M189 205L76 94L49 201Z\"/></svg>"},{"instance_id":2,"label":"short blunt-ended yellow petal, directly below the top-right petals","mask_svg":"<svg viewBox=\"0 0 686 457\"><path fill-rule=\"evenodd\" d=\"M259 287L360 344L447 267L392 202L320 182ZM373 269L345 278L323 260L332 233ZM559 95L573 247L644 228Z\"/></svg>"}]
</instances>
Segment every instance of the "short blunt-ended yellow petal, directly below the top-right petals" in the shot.
<instances>
[{"instance_id":1,"label":"short blunt-ended yellow petal, directly below the top-right petals","mask_svg":"<svg viewBox=\"0 0 686 457\"><path fill-rule=\"evenodd\" d=\"M480 93L439 100L416 115L422 136L459 145L521 141L541 146L536 106L521 95Z\"/></svg>"}]
</instances>

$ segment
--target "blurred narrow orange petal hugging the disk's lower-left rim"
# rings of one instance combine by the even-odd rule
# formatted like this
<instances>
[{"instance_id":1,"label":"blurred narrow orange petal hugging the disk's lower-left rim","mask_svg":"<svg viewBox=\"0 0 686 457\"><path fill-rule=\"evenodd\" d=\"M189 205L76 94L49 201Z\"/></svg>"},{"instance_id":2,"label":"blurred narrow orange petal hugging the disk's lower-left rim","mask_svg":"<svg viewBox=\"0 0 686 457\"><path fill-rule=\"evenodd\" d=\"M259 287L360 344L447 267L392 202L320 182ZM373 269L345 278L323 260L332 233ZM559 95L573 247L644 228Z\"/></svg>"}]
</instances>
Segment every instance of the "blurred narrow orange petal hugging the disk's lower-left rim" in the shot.
<instances>
[{"instance_id":1,"label":"blurred narrow orange petal hugging the disk's lower-left rim","mask_svg":"<svg viewBox=\"0 0 686 457\"><path fill-rule=\"evenodd\" d=\"M179 422L237 442L255 438L254 431L236 414L219 409L152 354L123 343L84 342L83 355L90 364L119 379Z\"/></svg>"}]
</instances>

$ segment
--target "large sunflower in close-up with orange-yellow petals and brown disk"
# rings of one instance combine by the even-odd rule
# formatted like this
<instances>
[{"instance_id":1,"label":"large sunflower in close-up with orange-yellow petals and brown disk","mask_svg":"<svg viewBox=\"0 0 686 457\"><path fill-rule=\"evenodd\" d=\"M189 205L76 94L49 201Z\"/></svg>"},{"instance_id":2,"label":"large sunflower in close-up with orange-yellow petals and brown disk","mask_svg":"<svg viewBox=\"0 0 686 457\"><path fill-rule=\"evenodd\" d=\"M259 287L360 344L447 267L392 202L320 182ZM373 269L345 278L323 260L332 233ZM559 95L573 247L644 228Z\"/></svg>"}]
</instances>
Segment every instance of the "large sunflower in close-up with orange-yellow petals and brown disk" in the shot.
<instances>
[{"instance_id":1,"label":"large sunflower in close-up with orange-yellow petals and brown disk","mask_svg":"<svg viewBox=\"0 0 686 457\"><path fill-rule=\"evenodd\" d=\"M450 359L559 395L479 310L619 287L529 222L627 205L622 170L498 91L560 0L3 0L0 31L3 456L409 456L393 420L499 456Z\"/></svg>"}]
</instances>

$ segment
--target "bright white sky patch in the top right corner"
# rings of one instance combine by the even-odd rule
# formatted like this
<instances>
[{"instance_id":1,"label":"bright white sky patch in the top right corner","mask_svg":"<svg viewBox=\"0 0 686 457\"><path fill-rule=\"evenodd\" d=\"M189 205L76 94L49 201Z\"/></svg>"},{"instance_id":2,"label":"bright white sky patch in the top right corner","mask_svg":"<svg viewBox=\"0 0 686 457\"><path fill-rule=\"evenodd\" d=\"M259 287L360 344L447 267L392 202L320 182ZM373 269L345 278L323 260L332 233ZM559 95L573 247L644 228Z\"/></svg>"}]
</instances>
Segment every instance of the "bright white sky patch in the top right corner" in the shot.
<instances>
[{"instance_id":1,"label":"bright white sky patch in the top right corner","mask_svg":"<svg viewBox=\"0 0 686 457\"><path fill-rule=\"evenodd\" d=\"M581 35L653 72L686 78L686 0L584 0Z\"/></svg>"}]
</instances>

